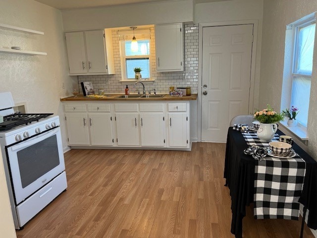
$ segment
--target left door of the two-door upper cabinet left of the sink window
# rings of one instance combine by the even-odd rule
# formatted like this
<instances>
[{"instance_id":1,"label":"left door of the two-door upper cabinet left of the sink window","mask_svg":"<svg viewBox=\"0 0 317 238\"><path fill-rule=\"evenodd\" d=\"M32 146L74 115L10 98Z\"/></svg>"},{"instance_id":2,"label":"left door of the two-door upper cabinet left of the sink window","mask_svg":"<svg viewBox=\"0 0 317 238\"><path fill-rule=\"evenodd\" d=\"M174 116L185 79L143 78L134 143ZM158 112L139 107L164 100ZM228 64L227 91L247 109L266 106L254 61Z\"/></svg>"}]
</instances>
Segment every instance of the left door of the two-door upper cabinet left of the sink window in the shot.
<instances>
[{"instance_id":1,"label":"left door of the two-door upper cabinet left of the sink window","mask_svg":"<svg viewBox=\"0 0 317 238\"><path fill-rule=\"evenodd\" d=\"M69 73L87 73L83 32L66 33Z\"/></svg>"}]
</instances>

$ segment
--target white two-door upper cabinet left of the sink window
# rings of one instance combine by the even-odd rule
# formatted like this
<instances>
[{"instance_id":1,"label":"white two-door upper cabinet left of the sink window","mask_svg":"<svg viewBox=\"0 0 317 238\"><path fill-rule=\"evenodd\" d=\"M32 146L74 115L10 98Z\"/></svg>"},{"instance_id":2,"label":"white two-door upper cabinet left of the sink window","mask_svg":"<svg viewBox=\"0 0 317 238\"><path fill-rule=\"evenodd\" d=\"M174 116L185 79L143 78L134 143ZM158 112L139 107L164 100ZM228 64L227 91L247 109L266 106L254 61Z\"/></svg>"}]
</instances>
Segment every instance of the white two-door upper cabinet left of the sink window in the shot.
<instances>
[{"instance_id":1,"label":"white two-door upper cabinet left of the sink window","mask_svg":"<svg viewBox=\"0 0 317 238\"><path fill-rule=\"evenodd\" d=\"M114 74L110 29L65 33L69 75Z\"/></svg>"}]
</instances>

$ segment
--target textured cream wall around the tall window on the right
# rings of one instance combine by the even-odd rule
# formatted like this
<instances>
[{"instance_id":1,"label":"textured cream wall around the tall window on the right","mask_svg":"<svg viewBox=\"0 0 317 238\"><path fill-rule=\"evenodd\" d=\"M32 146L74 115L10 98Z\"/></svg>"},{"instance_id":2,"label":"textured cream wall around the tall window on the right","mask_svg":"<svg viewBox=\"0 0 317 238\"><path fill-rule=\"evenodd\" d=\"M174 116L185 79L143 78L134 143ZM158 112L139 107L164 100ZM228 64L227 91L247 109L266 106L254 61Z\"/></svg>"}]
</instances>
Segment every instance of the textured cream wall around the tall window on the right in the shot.
<instances>
[{"instance_id":1,"label":"textured cream wall around the tall window on the right","mask_svg":"<svg viewBox=\"0 0 317 238\"><path fill-rule=\"evenodd\" d=\"M317 10L316 0L265 0L260 80L260 108L267 103L280 110L286 25ZM317 33L317 32L316 32ZM308 150L317 160L317 36L315 37L311 100L308 119ZM283 105L282 105L283 106ZM299 107L299 106L298 106Z\"/></svg>"}]
</instances>

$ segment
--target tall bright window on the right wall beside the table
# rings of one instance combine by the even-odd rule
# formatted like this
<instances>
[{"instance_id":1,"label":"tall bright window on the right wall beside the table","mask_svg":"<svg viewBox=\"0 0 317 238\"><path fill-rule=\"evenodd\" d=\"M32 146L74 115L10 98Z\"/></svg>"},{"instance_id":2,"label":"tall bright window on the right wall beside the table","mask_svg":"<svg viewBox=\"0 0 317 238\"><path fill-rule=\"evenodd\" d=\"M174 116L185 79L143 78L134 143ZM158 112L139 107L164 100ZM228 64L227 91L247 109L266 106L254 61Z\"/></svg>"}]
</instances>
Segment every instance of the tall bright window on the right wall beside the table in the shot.
<instances>
[{"instance_id":1,"label":"tall bright window on the right wall beside the table","mask_svg":"<svg viewBox=\"0 0 317 238\"><path fill-rule=\"evenodd\" d=\"M290 89L288 93L286 92L289 95L288 104L284 102L284 105L288 108L292 106L299 108L300 112L296 119L307 127L316 30L315 13L288 25L287 29L291 32L286 30L284 72L287 71L287 65L289 65L291 73L289 77L284 75L284 80L290 81L283 82L283 87L288 84ZM289 57L286 52L287 45L292 48L292 54ZM282 101L285 98L287 97L282 96Z\"/></svg>"}]
</instances>

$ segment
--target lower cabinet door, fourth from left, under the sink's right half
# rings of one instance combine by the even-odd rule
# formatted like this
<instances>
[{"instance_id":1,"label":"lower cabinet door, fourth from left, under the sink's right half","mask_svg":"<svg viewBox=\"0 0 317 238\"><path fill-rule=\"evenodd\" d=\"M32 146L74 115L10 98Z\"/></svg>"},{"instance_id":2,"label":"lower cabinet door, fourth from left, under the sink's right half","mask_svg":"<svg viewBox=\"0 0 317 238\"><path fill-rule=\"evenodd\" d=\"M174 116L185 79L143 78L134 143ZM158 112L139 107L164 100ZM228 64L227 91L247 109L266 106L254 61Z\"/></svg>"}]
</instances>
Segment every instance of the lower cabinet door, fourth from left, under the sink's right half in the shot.
<instances>
[{"instance_id":1,"label":"lower cabinet door, fourth from left, under the sink's right half","mask_svg":"<svg viewBox=\"0 0 317 238\"><path fill-rule=\"evenodd\" d=\"M141 145L160 146L165 145L163 113L141 113Z\"/></svg>"}]
</instances>

